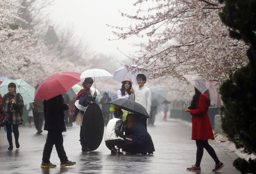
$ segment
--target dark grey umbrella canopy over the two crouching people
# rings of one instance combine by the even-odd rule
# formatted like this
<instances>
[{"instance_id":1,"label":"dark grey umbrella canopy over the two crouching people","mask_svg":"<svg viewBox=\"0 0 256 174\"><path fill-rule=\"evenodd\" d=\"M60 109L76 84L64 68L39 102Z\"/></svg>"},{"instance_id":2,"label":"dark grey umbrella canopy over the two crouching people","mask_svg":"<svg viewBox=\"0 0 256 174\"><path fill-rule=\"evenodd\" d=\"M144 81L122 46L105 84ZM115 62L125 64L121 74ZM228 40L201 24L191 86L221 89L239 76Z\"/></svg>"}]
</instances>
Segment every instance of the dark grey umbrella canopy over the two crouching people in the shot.
<instances>
[{"instance_id":1,"label":"dark grey umbrella canopy over the two crouching people","mask_svg":"<svg viewBox=\"0 0 256 174\"><path fill-rule=\"evenodd\" d=\"M150 118L149 115L147 114L147 111L144 108L144 106L142 106L141 104L139 104L137 102L134 102L132 100L116 99L116 100L113 100L109 103L113 103L117 106L122 106L124 110L132 112L132 113L137 114L139 116L144 116L144 117Z\"/></svg>"}]
</instances>

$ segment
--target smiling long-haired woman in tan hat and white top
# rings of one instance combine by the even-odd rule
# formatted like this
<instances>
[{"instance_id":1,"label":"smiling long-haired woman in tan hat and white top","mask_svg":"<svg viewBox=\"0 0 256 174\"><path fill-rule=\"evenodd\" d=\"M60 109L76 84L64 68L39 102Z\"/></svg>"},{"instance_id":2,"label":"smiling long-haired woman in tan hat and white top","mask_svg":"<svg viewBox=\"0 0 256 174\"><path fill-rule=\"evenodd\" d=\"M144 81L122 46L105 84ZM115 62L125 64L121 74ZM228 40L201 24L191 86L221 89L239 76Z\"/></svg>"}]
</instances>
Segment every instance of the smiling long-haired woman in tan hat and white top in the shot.
<instances>
[{"instance_id":1,"label":"smiling long-haired woman in tan hat and white top","mask_svg":"<svg viewBox=\"0 0 256 174\"><path fill-rule=\"evenodd\" d=\"M128 77L125 77L124 81L122 82L122 87L117 91L117 98L118 99L130 99L131 97L131 88L132 88L132 82L131 79ZM123 118L122 120L125 121L126 116L128 112L126 110L123 110Z\"/></svg>"}]
</instances>

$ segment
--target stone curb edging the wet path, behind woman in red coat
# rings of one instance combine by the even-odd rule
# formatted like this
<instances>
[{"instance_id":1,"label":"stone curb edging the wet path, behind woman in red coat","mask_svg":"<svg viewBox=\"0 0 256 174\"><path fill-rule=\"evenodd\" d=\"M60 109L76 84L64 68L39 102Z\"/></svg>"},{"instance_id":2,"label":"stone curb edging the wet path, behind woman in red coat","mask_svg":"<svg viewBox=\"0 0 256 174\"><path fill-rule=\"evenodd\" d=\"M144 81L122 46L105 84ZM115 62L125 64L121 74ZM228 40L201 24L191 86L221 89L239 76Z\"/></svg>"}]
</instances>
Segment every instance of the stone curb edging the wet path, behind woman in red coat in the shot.
<instances>
[{"instance_id":1,"label":"stone curb edging the wet path, behind woman in red coat","mask_svg":"<svg viewBox=\"0 0 256 174\"><path fill-rule=\"evenodd\" d=\"M169 118L168 120L169 121L178 120L178 121L183 122L185 125L192 127L192 123L185 121L185 120L173 119L173 118ZM244 150L244 148L237 149L236 145L232 141L229 141L228 138L225 137L224 135L216 134L216 135L214 135L214 137L215 137L215 141L219 142L221 145L223 145L223 146L227 147L228 149L230 149L231 151L235 152L241 158L244 158L247 161L249 160L249 158L256 159L256 155L247 154L247 153L242 152Z\"/></svg>"}]
</instances>

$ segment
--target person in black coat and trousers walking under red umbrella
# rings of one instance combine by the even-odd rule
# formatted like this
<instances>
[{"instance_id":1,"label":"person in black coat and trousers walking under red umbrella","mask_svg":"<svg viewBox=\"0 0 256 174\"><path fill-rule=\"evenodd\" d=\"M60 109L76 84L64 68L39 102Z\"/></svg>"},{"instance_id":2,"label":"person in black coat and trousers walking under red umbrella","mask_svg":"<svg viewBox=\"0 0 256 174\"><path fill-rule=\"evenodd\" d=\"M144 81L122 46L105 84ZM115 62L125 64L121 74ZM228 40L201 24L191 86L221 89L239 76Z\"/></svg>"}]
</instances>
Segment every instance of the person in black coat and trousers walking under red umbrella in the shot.
<instances>
[{"instance_id":1,"label":"person in black coat and trousers walking under red umbrella","mask_svg":"<svg viewBox=\"0 0 256 174\"><path fill-rule=\"evenodd\" d=\"M69 161L63 147L62 131L65 130L64 110L69 109L68 104L64 104L62 95L57 95L49 100L44 100L44 130L48 130L47 139L44 145L42 168L56 167L50 162L53 145L55 144L60 167L72 166L75 162Z\"/></svg>"}]
</instances>

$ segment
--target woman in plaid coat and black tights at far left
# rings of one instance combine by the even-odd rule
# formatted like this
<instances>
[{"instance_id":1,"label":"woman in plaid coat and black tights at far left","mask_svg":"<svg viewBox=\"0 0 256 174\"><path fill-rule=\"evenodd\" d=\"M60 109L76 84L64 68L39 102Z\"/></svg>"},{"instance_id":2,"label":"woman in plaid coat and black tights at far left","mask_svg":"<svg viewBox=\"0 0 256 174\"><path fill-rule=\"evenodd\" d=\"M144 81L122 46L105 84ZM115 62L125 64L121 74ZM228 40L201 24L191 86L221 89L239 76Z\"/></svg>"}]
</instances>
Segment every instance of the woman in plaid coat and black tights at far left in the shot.
<instances>
[{"instance_id":1,"label":"woman in plaid coat and black tights at far left","mask_svg":"<svg viewBox=\"0 0 256 174\"><path fill-rule=\"evenodd\" d=\"M9 83L8 93L3 96L2 102L0 104L0 111L5 116L8 115L8 124L6 124L7 139L9 142L8 150L13 149L12 143L12 130L15 138L16 148L19 148L19 124L23 122L23 98L19 93L16 93L16 84Z\"/></svg>"}]
</instances>

